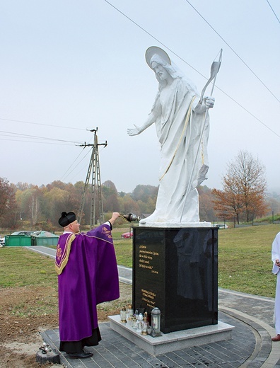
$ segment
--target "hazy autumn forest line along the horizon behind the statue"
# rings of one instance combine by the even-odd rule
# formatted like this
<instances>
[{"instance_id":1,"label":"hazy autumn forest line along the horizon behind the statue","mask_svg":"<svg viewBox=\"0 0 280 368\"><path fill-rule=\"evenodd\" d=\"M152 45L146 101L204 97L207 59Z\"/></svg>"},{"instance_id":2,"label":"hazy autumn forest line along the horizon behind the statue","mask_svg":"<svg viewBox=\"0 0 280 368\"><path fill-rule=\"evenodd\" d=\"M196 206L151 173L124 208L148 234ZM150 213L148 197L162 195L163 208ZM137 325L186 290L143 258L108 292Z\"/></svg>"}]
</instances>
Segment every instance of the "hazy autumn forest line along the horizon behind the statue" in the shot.
<instances>
[{"instance_id":1,"label":"hazy autumn forest line along the horizon behind the statue","mask_svg":"<svg viewBox=\"0 0 280 368\"><path fill-rule=\"evenodd\" d=\"M62 212L74 211L78 214L84 194L83 219L81 224L90 223L91 190L84 192L85 184L54 181L47 185L37 186L28 183L8 183L0 178L0 228L18 229L29 226L32 229L57 231L57 220ZM215 196L213 190L206 185L199 186L200 221L221 222L214 209ZM136 185L131 193L118 192L115 184L107 180L102 184L103 210L109 218L112 212L122 214L151 214L156 207L158 187L153 185ZM6 196L6 207L3 205ZM280 195L269 194L265 198L267 216L272 212L280 213ZM98 218L98 213L95 214Z\"/></svg>"}]
</instances>

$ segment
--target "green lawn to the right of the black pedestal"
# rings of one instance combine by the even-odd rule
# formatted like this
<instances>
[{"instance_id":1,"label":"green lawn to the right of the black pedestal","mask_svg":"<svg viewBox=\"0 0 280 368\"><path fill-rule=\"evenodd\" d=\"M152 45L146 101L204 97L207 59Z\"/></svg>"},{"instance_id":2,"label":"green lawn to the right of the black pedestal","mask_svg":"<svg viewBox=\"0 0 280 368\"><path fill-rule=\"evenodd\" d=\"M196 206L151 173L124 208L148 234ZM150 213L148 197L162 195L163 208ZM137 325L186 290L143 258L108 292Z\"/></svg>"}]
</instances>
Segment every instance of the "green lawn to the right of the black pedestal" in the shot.
<instances>
[{"instance_id":1,"label":"green lawn to the right of the black pedestal","mask_svg":"<svg viewBox=\"0 0 280 368\"><path fill-rule=\"evenodd\" d=\"M279 224L220 230L218 286L238 292L275 296L272 241Z\"/></svg>"}]
</instances>

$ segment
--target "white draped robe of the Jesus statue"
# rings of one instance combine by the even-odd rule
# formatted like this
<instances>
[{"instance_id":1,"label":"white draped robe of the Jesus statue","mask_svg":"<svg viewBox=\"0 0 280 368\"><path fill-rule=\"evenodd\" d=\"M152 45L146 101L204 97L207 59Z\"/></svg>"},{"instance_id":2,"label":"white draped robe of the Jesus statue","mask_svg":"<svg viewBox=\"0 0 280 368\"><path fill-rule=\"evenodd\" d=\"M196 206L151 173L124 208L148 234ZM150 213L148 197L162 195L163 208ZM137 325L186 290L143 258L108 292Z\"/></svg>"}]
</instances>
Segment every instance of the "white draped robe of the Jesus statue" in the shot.
<instances>
[{"instance_id":1,"label":"white draped robe of the Jesus statue","mask_svg":"<svg viewBox=\"0 0 280 368\"><path fill-rule=\"evenodd\" d=\"M181 78L156 96L152 113L161 144L160 185L156 210L146 223L199 222L197 186L209 168L209 115L196 112L198 103L197 92Z\"/></svg>"}]
</instances>

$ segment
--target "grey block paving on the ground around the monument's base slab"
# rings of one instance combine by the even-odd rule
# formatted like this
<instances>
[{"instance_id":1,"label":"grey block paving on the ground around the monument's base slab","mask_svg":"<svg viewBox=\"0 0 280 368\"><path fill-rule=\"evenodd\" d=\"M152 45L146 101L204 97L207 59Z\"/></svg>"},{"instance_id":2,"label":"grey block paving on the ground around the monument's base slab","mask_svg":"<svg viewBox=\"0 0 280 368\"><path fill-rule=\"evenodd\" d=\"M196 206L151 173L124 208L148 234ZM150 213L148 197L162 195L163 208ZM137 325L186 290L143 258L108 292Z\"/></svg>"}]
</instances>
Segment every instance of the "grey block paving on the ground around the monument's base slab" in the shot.
<instances>
[{"instance_id":1,"label":"grey block paving on the ground around the monument's base slab","mask_svg":"<svg viewBox=\"0 0 280 368\"><path fill-rule=\"evenodd\" d=\"M134 343L111 330L109 323L100 323L102 341L97 347L88 347L93 357L86 360L70 360L61 353L61 363L66 367L128 367L128 368L179 368L179 367L240 367L246 360L252 360L250 367L261 367L261 363L269 355L257 357L255 333L250 326L227 314L220 313L219 320L235 326L231 340L210 343L174 352L168 352L157 357L139 349ZM58 330L47 330L42 338L58 350ZM257 359L258 358L258 359ZM248 366L249 367L249 366Z\"/></svg>"}]
</instances>

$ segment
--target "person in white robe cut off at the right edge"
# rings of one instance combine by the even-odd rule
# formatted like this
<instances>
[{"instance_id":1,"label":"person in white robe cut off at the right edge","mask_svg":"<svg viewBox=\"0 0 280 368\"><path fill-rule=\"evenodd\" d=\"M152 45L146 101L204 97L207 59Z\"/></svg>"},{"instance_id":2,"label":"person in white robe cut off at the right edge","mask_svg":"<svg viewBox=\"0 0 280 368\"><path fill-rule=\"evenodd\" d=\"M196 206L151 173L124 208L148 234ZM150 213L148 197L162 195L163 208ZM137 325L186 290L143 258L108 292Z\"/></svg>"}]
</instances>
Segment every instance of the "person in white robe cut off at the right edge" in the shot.
<instances>
[{"instance_id":1,"label":"person in white robe cut off at the right edge","mask_svg":"<svg viewBox=\"0 0 280 368\"><path fill-rule=\"evenodd\" d=\"M280 341L280 232L276 235L272 243L272 272L277 275L276 295L275 295L275 330L276 336L272 341Z\"/></svg>"}]
</instances>

